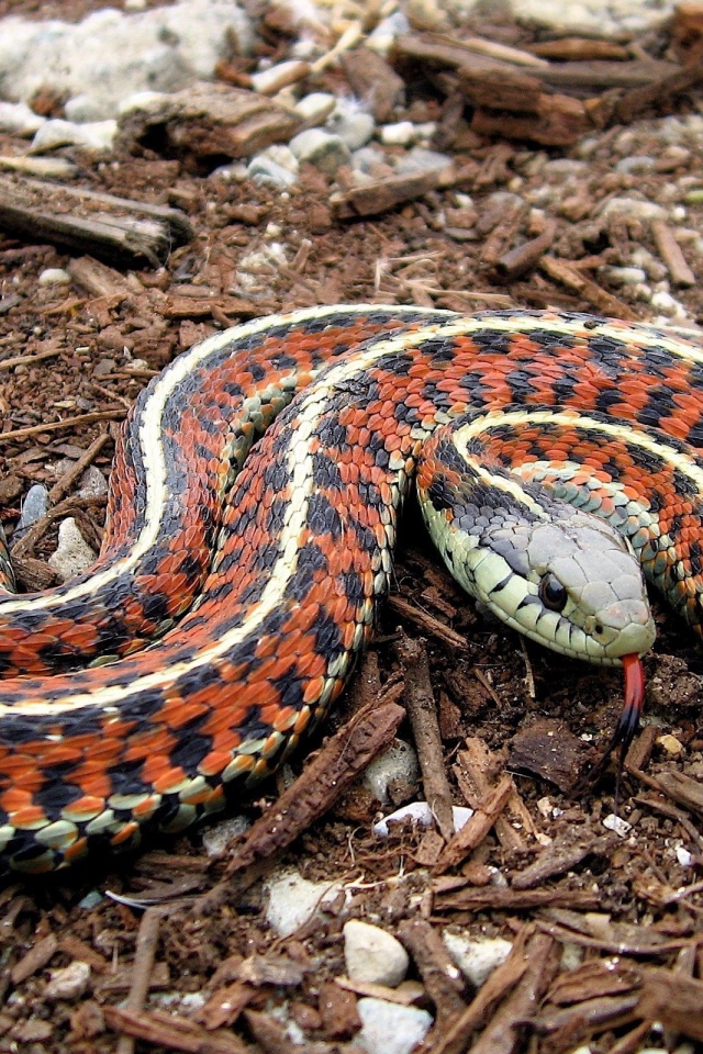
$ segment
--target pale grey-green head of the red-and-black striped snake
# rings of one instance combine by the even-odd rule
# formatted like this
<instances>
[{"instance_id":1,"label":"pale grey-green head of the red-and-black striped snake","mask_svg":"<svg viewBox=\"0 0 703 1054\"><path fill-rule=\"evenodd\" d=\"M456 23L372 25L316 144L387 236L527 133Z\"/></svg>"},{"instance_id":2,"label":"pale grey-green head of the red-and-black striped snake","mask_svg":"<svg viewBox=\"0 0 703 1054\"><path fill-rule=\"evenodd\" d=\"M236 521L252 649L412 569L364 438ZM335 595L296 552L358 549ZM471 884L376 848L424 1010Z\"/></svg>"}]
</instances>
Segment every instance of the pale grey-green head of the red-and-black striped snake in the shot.
<instances>
[{"instance_id":1,"label":"pale grey-green head of the red-and-black striped snake","mask_svg":"<svg viewBox=\"0 0 703 1054\"><path fill-rule=\"evenodd\" d=\"M429 532L454 578L498 618L590 662L649 651L655 624L640 565L607 522L498 467L496 486L446 461L432 479L425 485L421 471Z\"/></svg>"}]
</instances>

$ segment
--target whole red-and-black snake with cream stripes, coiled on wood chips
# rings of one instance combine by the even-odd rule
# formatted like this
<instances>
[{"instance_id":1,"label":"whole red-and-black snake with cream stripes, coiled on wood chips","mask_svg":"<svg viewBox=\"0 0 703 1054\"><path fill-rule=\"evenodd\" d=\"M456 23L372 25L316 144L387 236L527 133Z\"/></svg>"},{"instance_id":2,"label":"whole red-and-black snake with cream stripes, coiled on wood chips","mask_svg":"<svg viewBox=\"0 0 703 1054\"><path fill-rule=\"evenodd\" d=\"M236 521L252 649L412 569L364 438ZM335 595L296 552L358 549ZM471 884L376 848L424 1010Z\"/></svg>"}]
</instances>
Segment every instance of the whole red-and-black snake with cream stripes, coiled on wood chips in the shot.
<instances>
[{"instance_id":1,"label":"whole red-and-black snake with cream stripes, coiled on wood chips","mask_svg":"<svg viewBox=\"0 0 703 1054\"><path fill-rule=\"evenodd\" d=\"M548 647L647 651L637 561L701 633L702 445L703 355L590 315L314 307L191 348L129 416L91 573L0 602L2 867L278 764L370 636L415 475L456 578Z\"/></svg>"}]
</instances>

